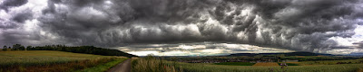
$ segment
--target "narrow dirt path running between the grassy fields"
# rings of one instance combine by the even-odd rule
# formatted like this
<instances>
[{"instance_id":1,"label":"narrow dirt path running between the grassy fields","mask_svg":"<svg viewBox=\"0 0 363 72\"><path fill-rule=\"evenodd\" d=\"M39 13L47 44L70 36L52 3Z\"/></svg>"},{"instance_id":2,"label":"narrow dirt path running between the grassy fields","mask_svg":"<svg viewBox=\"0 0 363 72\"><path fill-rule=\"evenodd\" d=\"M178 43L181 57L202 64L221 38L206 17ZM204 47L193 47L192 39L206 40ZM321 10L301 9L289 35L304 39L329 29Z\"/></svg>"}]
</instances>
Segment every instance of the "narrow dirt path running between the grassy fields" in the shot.
<instances>
[{"instance_id":1,"label":"narrow dirt path running between the grassy fields","mask_svg":"<svg viewBox=\"0 0 363 72\"><path fill-rule=\"evenodd\" d=\"M124 60L123 63L116 65L108 72L131 72L131 58Z\"/></svg>"}]
</instances>

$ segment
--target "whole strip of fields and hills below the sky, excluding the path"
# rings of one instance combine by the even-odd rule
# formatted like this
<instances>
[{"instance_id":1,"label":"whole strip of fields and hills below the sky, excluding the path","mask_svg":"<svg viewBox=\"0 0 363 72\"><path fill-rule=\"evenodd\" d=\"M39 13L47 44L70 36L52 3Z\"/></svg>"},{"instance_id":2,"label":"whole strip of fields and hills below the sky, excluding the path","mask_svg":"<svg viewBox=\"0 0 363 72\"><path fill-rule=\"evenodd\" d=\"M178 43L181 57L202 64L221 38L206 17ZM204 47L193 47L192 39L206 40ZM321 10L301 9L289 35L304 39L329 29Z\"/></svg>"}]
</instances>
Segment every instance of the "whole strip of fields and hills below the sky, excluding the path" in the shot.
<instances>
[{"instance_id":1,"label":"whole strip of fields and hills below the sky, excluding the path","mask_svg":"<svg viewBox=\"0 0 363 72\"><path fill-rule=\"evenodd\" d=\"M311 52L137 57L116 49L64 45L4 46L1 71L108 71L132 59L132 72L361 72L363 58Z\"/></svg>"}]
</instances>

